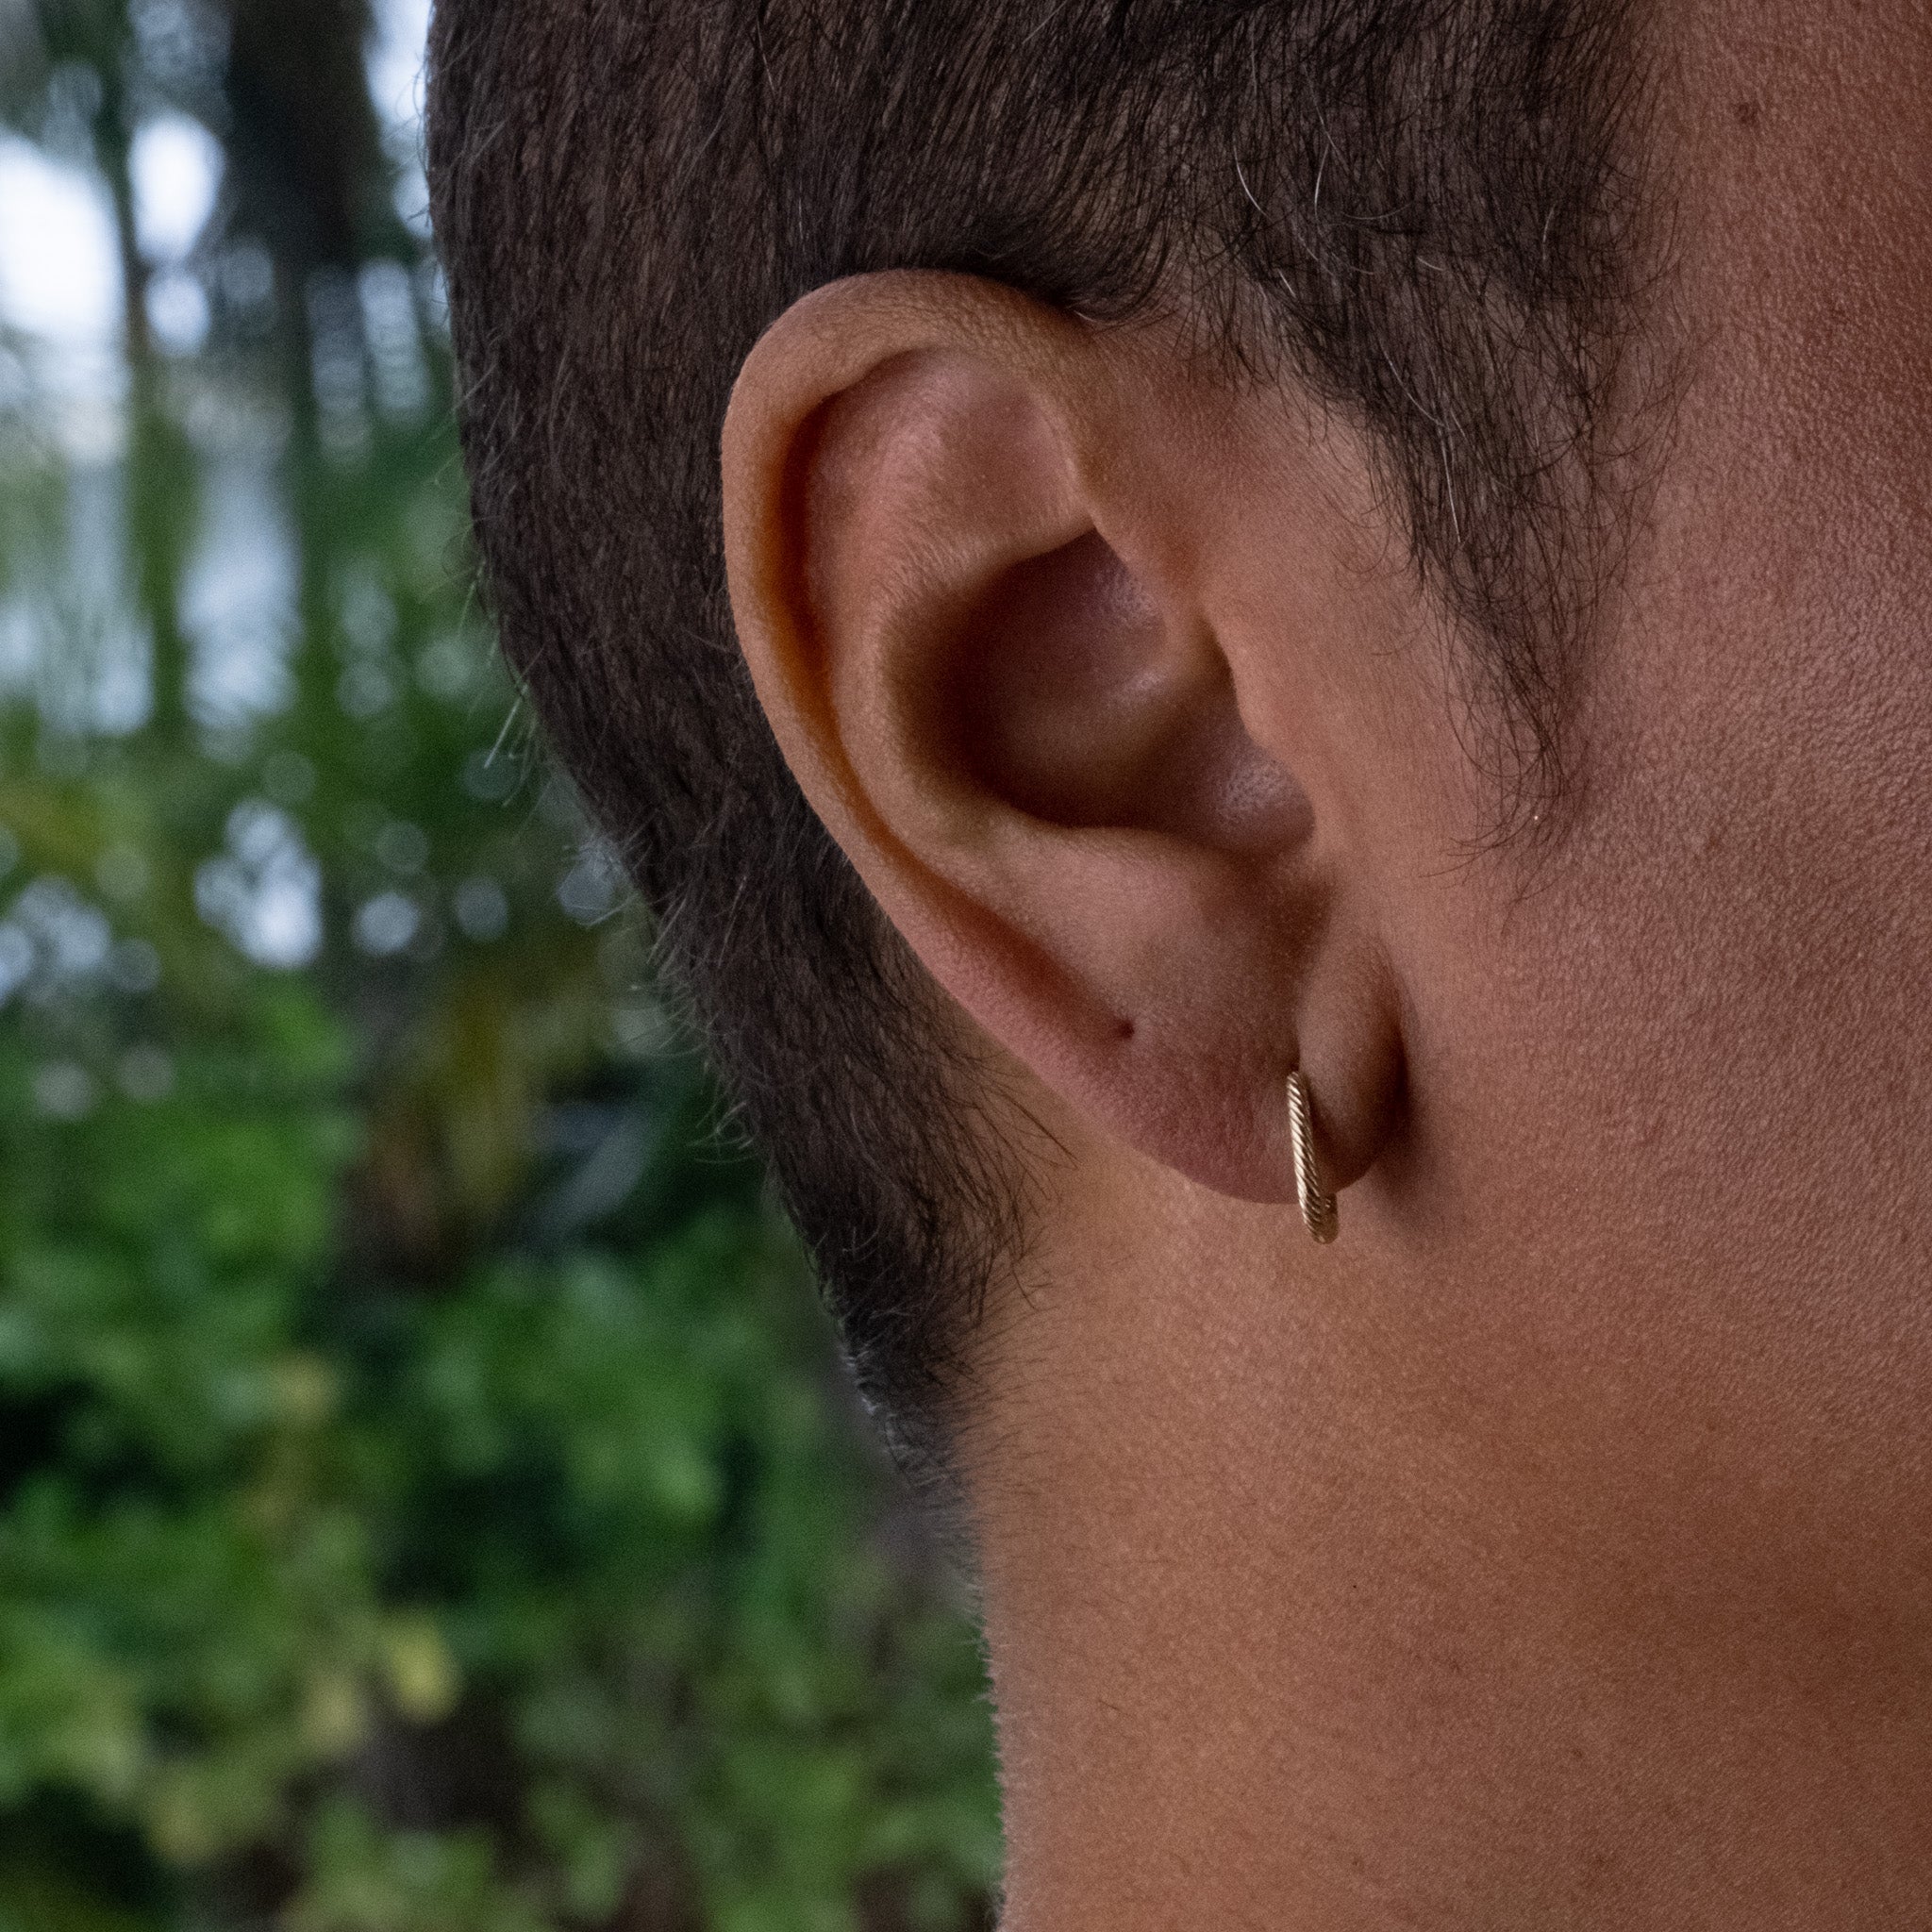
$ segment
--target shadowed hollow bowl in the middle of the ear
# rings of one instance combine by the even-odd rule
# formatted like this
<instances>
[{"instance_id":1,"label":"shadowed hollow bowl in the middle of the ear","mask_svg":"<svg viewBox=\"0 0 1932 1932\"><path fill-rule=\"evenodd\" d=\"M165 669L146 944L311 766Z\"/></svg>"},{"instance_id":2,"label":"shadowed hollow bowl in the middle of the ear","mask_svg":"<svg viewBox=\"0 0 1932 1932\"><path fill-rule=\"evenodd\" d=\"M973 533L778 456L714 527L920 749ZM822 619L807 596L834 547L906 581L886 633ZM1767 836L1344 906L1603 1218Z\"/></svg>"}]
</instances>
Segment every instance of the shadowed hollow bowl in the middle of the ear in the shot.
<instances>
[{"instance_id":1,"label":"shadowed hollow bowl in the middle of the ear","mask_svg":"<svg viewBox=\"0 0 1932 1932\"><path fill-rule=\"evenodd\" d=\"M1007 570L949 639L931 728L985 792L1065 827L1281 850L1308 804L1246 732L1227 663L1097 531Z\"/></svg>"}]
</instances>

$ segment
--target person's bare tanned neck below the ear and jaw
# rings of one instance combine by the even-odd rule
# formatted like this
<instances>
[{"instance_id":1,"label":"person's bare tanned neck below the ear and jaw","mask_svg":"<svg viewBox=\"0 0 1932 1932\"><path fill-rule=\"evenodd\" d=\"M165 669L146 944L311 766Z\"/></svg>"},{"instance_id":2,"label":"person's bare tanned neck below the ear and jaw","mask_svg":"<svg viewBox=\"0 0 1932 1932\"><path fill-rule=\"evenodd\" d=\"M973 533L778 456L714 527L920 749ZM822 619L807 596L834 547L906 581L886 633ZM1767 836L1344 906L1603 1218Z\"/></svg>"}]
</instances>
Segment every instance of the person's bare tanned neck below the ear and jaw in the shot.
<instances>
[{"instance_id":1,"label":"person's bare tanned neck below the ear and jaw","mask_svg":"<svg viewBox=\"0 0 1932 1932\"><path fill-rule=\"evenodd\" d=\"M1922 1631L1654 1486L1569 1370L1445 1356L1418 1285L1298 1281L1291 1233L1084 1227L997 1343L1007 1932L1905 1922Z\"/></svg>"}]
</instances>

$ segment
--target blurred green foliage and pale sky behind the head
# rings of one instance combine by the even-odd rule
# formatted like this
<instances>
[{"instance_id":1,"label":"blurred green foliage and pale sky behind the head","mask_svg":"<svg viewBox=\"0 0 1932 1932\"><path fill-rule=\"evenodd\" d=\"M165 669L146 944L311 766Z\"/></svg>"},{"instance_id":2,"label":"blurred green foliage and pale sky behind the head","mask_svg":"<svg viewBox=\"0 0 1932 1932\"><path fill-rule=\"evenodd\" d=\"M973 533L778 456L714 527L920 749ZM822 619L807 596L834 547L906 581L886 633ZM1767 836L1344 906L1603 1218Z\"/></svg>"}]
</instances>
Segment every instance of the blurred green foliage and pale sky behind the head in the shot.
<instances>
[{"instance_id":1,"label":"blurred green foliage and pale sky behind the head","mask_svg":"<svg viewBox=\"0 0 1932 1932\"><path fill-rule=\"evenodd\" d=\"M0 0L0 1932L952 1928L958 1582L469 589L427 0Z\"/></svg>"}]
</instances>

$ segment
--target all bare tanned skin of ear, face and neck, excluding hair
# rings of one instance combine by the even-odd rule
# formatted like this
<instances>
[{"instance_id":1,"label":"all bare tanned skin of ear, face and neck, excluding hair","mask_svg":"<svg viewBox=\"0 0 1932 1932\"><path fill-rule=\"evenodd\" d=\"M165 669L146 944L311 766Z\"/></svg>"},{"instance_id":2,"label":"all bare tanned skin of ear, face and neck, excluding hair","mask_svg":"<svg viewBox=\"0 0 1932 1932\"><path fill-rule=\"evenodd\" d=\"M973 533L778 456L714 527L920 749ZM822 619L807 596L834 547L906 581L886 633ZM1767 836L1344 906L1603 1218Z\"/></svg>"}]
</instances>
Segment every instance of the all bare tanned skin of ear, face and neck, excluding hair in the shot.
<instances>
[{"instance_id":1,"label":"all bare tanned skin of ear, face and neck, excluding hair","mask_svg":"<svg viewBox=\"0 0 1932 1932\"><path fill-rule=\"evenodd\" d=\"M773 726L1057 1142L964 1434L1009 1932L1924 1922L1932 14L1658 31L1555 842L1293 392L939 276L738 384Z\"/></svg>"}]
</instances>

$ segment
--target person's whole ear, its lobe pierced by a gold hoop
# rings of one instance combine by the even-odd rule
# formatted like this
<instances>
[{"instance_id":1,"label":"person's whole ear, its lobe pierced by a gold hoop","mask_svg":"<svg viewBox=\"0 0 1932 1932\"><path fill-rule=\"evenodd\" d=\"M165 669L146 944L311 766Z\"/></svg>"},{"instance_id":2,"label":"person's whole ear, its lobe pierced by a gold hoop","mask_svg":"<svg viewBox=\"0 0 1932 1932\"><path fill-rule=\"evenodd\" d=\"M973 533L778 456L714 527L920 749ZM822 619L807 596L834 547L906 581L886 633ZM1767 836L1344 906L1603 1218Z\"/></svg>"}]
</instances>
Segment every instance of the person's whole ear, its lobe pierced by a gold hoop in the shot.
<instances>
[{"instance_id":1,"label":"person's whole ear, its lobe pierced by a gold hoop","mask_svg":"<svg viewBox=\"0 0 1932 1932\"><path fill-rule=\"evenodd\" d=\"M966 276L819 290L724 429L738 636L887 918L1103 1132L1250 1200L1294 1198L1296 1065L1335 1186L1401 1090L1360 483L1279 392Z\"/></svg>"}]
</instances>

